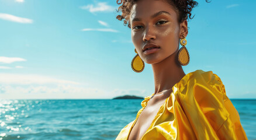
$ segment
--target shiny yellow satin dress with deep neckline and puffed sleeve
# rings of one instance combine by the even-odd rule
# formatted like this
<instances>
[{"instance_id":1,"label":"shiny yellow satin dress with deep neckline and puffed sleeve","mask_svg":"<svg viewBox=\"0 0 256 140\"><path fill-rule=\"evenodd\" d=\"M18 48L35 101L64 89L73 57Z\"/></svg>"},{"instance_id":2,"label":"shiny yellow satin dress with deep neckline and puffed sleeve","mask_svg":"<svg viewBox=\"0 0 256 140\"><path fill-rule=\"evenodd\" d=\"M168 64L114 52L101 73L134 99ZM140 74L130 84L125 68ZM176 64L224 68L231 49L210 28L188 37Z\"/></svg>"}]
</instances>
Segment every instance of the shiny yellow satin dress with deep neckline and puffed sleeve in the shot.
<instances>
[{"instance_id":1,"label":"shiny yellow satin dress with deep neckline and puffed sleeve","mask_svg":"<svg viewBox=\"0 0 256 140\"><path fill-rule=\"evenodd\" d=\"M126 125L116 140L126 140L151 96L141 101L136 119ZM226 96L219 76L212 71L186 74L172 87L171 95L141 140L147 139L247 139L239 114Z\"/></svg>"}]
</instances>

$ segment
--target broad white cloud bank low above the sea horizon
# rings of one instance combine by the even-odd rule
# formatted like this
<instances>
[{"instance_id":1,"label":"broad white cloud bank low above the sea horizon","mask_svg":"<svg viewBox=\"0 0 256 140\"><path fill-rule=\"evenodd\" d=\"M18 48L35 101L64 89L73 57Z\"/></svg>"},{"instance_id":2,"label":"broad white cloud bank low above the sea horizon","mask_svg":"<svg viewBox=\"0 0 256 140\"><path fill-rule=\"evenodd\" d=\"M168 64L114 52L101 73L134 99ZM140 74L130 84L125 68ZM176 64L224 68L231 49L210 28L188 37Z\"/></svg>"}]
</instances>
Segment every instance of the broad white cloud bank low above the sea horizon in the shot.
<instances>
[{"instance_id":1,"label":"broad white cloud bank low above the sea horizon","mask_svg":"<svg viewBox=\"0 0 256 140\"><path fill-rule=\"evenodd\" d=\"M146 90L91 88L85 83L41 75L0 74L1 99L112 99L117 96L145 97Z\"/></svg>"}]
</instances>

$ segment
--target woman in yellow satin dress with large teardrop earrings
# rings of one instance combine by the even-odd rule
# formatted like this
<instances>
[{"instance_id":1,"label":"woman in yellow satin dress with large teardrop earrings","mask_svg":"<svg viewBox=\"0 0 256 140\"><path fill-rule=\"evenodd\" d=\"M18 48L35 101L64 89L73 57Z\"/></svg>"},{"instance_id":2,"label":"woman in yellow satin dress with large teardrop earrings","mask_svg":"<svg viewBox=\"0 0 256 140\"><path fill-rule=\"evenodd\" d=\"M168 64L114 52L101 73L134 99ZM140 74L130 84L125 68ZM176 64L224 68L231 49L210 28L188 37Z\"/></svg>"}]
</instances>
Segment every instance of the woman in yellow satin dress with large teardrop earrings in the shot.
<instances>
[{"instance_id":1,"label":"woman in yellow satin dress with large teardrop earrings","mask_svg":"<svg viewBox=\"0 0 256 140\"><path fill-rule=\"evenodd\" d=\"M118 3L119 0L117 0ZM151 64L155 91L116 139L247 139L219 76L200 69L185 74L188 15L198 5L181 0L121 0L131 29L136 72ZM117 11L117 12L118 12ZM179 49L179 43L183 46Z\"/></svg>"}]
</instances>

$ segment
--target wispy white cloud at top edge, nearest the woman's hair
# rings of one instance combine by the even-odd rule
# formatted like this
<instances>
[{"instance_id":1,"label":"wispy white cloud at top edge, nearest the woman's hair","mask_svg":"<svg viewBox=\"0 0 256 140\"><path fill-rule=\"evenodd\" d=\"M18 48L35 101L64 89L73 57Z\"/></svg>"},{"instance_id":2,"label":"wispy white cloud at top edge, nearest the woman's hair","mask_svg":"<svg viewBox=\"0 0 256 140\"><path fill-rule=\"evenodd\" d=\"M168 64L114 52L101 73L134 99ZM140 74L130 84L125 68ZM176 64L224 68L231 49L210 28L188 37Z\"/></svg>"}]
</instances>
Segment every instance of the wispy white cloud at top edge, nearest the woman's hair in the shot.
<instances>
[{"instance_id":1,"label":"wispy white cloud at top edge, nearest the woman's hair","mask_svg":"<svg viewBox=\"0 0 256 140\"><path fill-rule=\"evenodd\" d=\"M96 6L94 5L85 5L81 6L82 9L88 9L89 12L94 13L94 12L112 12L115 10L113 6L107 5L106 2L99 2L96 3Z\"/></svg>"}]
</instances>

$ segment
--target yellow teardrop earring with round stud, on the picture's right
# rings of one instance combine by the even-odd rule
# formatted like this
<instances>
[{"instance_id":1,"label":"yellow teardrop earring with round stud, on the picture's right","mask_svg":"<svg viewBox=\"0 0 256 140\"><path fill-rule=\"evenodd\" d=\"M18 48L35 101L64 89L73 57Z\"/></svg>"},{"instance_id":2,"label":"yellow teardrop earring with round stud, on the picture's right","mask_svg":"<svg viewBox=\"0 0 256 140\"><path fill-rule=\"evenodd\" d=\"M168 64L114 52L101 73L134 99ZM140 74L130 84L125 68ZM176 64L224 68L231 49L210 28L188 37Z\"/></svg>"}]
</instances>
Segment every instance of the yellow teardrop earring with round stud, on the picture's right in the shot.
<instances>
[{"instance_id":1,"label":"yellow teardrop earring with round stud, on the picture's right","mask_svg":"<svg viewBox=\"0 0 256 140\"><path fill-rule=\"evenodd\" d=\"M178 51L178 61L181 65L188 65L189 63L189 53L188 50L186 50L186 39L185 36L182 34L184 38L181 39L181 48Z\"/></svg>"}]
</instances>

